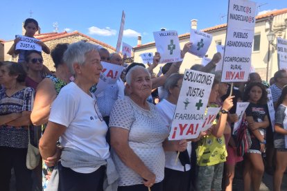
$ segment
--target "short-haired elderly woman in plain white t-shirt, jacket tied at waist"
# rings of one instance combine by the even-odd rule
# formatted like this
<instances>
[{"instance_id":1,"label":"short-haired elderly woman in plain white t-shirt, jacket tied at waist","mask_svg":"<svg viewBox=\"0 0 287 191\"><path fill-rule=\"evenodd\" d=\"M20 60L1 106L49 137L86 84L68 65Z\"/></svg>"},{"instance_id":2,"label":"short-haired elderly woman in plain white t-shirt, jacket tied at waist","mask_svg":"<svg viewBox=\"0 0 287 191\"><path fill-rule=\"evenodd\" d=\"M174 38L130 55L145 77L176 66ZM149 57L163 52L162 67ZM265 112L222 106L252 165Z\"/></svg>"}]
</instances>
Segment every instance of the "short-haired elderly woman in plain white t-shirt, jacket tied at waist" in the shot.
<instances>
[{"instance_id":1,"label":"short-haired elderly woman in plain white t-shirt, jacket tied at waist","mask_svg":"<svg viewBox=\"0 0 287 191\"><path fill-rule=\"evenodd\" d=\"M60 138L64 148L58 164L60 190L103 190L105 164L109 169L112 160L105 140L107 125L89 91L103 69L101 57L93 44L76 42L69 45L63 60L75 80L61 89L51 105L40 152L44 159L53 156ZM50 190L56 190L55 172L49 181Z\"/></svg>"}]
</instances>

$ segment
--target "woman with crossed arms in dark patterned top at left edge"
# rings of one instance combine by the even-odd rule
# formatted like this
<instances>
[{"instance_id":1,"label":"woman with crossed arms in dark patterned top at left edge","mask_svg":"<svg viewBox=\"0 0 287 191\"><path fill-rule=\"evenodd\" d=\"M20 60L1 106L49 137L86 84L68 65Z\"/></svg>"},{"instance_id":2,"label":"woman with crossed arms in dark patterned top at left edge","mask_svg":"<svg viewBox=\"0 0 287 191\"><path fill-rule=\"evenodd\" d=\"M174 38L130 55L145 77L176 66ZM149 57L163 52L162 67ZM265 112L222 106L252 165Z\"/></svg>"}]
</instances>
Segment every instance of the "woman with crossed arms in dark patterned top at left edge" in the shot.
<instances>
[{"instance_id":1,"label":"woman with crossed arms in dark patterned top at left edge","mask_svg":"<svg viewBox=\"0 0 287 191\"><path fill-rule=\"evenodd\" d=\"M32 190L26 155L34 91L23 85L25 78L21 64L0 62L0 190L9 190L12 167L16 189Z\"/></svg>"}]
</instances>

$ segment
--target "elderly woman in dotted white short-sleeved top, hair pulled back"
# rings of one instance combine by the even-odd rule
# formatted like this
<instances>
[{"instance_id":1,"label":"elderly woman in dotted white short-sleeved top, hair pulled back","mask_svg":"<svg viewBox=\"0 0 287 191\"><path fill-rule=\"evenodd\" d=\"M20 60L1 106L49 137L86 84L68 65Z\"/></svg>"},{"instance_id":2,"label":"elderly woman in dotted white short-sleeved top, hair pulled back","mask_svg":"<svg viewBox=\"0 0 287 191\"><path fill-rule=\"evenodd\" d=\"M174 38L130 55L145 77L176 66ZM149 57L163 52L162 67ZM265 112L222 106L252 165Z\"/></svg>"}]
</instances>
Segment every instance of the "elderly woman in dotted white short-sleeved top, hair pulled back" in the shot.
<instances>
[{"instance_id":1,"label":"elderly woman in dotted white short-sleeved top, hair pulled back","mask_svg":"<svg viewBox=\"0 0 287 191\"><path fill-rule=\"evenodd\" d=\"M112 157L119 172L119 191L162 191L164 150L184 151L186 140L168 141L168 128L155 106L150 73L134 66L126 75L128 96L117 100L110 116Z\"/></svg>"}]
</instances>

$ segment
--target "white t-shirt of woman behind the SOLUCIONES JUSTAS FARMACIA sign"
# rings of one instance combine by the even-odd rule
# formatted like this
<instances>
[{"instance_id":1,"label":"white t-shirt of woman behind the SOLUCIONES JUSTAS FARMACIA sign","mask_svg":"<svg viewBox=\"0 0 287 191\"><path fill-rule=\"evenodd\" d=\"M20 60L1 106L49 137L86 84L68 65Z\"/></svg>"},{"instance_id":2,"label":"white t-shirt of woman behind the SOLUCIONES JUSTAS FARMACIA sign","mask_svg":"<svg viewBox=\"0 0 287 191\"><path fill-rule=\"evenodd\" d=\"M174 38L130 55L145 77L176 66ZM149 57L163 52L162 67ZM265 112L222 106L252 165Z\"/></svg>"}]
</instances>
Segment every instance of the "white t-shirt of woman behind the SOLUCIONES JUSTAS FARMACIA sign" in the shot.
<instances>
[{"instance_id":1,"label":"white t-shirt of woman behind the SOLUCIONES JUSTAS FARMACIA sign","mask_svg":"<svg viewBox=\"0 0 287 191\"><path fill-rule=\"evenodd\" d=\"M164 99L161 102L159 102L155 107L159 115L162 116L162 119L164 120L166 127L170 129L171 122L173 121L173 115L175 113L176 105ZM191 158L191 141L187 142L186 149L187 149L187 152L189 153L189 158ZM184 172L184 167L182 166L182 163L180 163L180 161L178 161L177 164L175 164L175 159L177 157L176 152L164 152L164 153L166 155L166 167L167 168ZM185 170L188 171L190 169L191 169L191 165L186 164Z\"/></svg>"}]
</instances>

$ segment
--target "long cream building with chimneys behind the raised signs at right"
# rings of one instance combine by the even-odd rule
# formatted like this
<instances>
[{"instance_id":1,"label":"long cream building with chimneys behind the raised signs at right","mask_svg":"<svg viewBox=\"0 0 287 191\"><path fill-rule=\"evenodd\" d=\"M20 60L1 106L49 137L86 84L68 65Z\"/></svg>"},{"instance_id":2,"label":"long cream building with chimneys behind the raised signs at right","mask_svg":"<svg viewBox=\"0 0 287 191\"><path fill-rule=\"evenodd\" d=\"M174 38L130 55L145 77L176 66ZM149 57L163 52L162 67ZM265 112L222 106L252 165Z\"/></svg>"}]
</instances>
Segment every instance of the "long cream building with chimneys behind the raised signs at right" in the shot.
<instances>
[{"instance_id":1,"label":"long cream building with chimneys behind the raised signs at right","mask_svg":"<svg viewBox=\"0 0 287 191\"><path fill-rule=\"evenodd\" d=\"M191 20L191 28L197 29L197 20ZM272 24L272 31L277 37L287 39L287 8L281 10L275 10L267 12L264 15L256 16L256 24L254 28L254 43L252 47L252 66L257 73L261 75L263 80L270 79L274 73L278 70L277 66L277 51L276 51L276 39L270 46L270 62L268 67L268 77L266 77L267 63L268 63L268 39L267 34L270 32L270 24ZM202 29L201 31L209 33L213 36L207 56L212 58L216 53L217 44L225 44L227 24L220 24L218 26L212 26L210 28ZM190 33L185 33L178 36L180 39L180 48L184 47L186 42L189 42ZM141 45L141 37L138 37L138 45L133 48L134 50L134 62L141 62L141 53L156 52L155 42ZM186 58L189 62L184 62L180 68L180 72L184 72L184 69L189 69L193 64L200 64L201 58L189 53L186 54ZM155 69L155 72L159 69Z\"/></svg>"}]
</instances>

